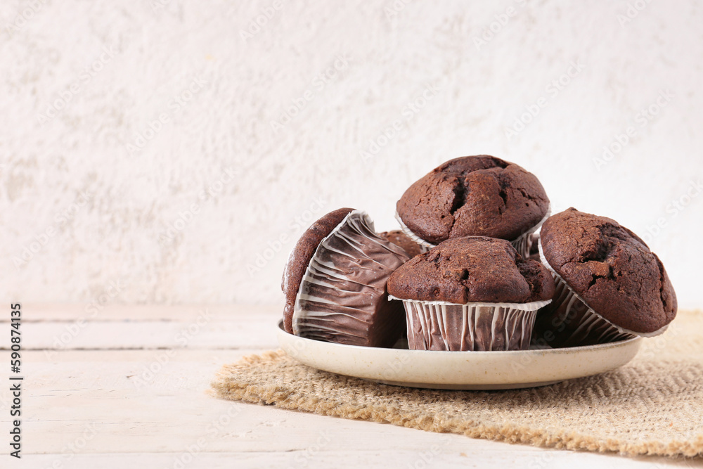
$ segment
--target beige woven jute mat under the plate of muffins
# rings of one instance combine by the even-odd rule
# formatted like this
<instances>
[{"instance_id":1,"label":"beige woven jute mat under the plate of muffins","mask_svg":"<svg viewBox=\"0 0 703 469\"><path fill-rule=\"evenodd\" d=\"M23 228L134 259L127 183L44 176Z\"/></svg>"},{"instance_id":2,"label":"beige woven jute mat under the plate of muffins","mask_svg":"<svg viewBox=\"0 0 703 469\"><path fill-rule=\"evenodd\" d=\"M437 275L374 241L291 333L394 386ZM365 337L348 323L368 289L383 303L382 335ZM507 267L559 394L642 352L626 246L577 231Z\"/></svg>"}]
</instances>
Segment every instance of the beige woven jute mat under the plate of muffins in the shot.
<instances>
[{"instance_id":1,"label":"beige woven jute mat under the plate of muffins","mask_svg":"<svg viewBox=\"0 0 703 469\"><path fill-rule=\"evenodd\" d=\"M621 454L703 457L703 311L679 311L633 361L588 378L524 390L380 385L318 371L283 351L224 366L224 399L274 404L511 443Z\"/></svg>"}]
</instances>

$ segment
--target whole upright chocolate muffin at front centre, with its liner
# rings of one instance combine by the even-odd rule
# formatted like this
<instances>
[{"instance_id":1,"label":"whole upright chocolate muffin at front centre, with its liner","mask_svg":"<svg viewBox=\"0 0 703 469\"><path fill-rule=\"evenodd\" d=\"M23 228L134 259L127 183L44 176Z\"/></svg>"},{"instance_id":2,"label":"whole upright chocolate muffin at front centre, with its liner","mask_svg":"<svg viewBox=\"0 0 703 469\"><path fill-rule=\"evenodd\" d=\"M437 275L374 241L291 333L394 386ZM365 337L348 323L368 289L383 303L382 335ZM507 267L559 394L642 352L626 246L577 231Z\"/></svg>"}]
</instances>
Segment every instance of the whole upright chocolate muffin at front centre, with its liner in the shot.
<instances>
[{"instance_id":1,"label":"whole upright chocolate muffin at front centre, with its liner","mask_svg":"<svg viewBox=\"0 0 703 469\"><path fill-rule=\"evenodd\" d=\"M400 266L388 292L403 300L411 349L524 350L554 282L507 240L468 236Z\"/></svg>"}]
</instances>

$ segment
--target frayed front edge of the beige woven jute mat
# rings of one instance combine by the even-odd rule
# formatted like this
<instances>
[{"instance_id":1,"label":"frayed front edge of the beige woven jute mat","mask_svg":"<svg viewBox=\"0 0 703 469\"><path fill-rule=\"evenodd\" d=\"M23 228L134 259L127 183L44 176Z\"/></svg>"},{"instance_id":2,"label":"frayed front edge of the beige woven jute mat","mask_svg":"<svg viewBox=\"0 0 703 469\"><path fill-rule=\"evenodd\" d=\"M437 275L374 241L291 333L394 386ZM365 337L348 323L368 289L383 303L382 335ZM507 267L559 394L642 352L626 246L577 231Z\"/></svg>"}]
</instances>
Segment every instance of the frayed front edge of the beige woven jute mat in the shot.
<instances>
[{"instance_id":1,"label":"frayed front edge of the beige woven jute mat","mask_svg":"<svg viewBox=\"0 0 703 469\"><path fill-rule=\"evenodd\" d=\"M244 356L236 364L226 365L217 374L212 387L221 399L244 401L252 404L275 405L281 409L318 413L323 416L368 420L390 423L401 427L416 428L428 432L456 433L472 438L492 439L508 443L531 444L555 449L616 452L626 456L703 456L703 435L692 441L644 441L633 444L619 439L599 441L578 432L559 432L527 428L515 425L482 425L473 420L449 418L438 422L433 415L417 412L402 412L396 406L374 404L361 406L354 402L340 401L334 397L309 396L285 390L276 385L240 383L232 377L252 365L278 361L285 356L283 350Z\"/></svg>"}]
</instances>

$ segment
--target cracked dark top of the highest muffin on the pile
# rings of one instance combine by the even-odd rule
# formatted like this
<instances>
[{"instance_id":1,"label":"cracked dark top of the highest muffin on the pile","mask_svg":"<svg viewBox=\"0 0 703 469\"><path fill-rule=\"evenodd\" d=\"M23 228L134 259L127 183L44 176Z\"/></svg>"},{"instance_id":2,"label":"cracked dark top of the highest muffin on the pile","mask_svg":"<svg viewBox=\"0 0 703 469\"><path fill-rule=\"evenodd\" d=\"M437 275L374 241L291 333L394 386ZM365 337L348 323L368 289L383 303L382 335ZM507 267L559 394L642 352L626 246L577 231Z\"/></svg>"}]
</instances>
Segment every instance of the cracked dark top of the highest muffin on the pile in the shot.
<instances>
[{"instance_id":1,"label":"cracked dark top of the highest muffin on the pile","mask_svg":"<svg viewBox=\"0 0 703 469\"><path fill-rule=\"evenodd\" d=\"M515 240L545 217L549 199L534 174L489 155L449 160L396 204L413 233L437 244L460 236Z\"/></svg>"}]
</instances>

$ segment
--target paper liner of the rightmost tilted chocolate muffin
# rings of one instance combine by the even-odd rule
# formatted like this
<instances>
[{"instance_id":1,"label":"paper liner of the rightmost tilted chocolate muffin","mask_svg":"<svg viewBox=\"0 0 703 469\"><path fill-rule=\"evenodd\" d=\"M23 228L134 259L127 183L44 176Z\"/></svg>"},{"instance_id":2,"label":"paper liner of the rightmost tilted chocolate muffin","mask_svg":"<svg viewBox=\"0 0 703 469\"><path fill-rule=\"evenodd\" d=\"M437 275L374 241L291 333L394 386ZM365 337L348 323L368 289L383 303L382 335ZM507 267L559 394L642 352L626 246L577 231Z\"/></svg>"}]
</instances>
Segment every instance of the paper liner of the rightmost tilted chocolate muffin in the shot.
<instances>
[{"instance_id":1,"label":"paper liner of the rightmost tilted chocolate muffin","mask_svg":"<svg viewBox=\"0 0 703 469\"><path fill-rule=\"evenodd\" d=\"M641 337L652 337L666 330L666 326L653 333L636 333L608 321L588 306L569 284L549 265L538 243L539 257L554 278L555 293L552 304L539 311L532 341L551 347L576 347L596 345Z\"/></svg>"}]
</instances>

